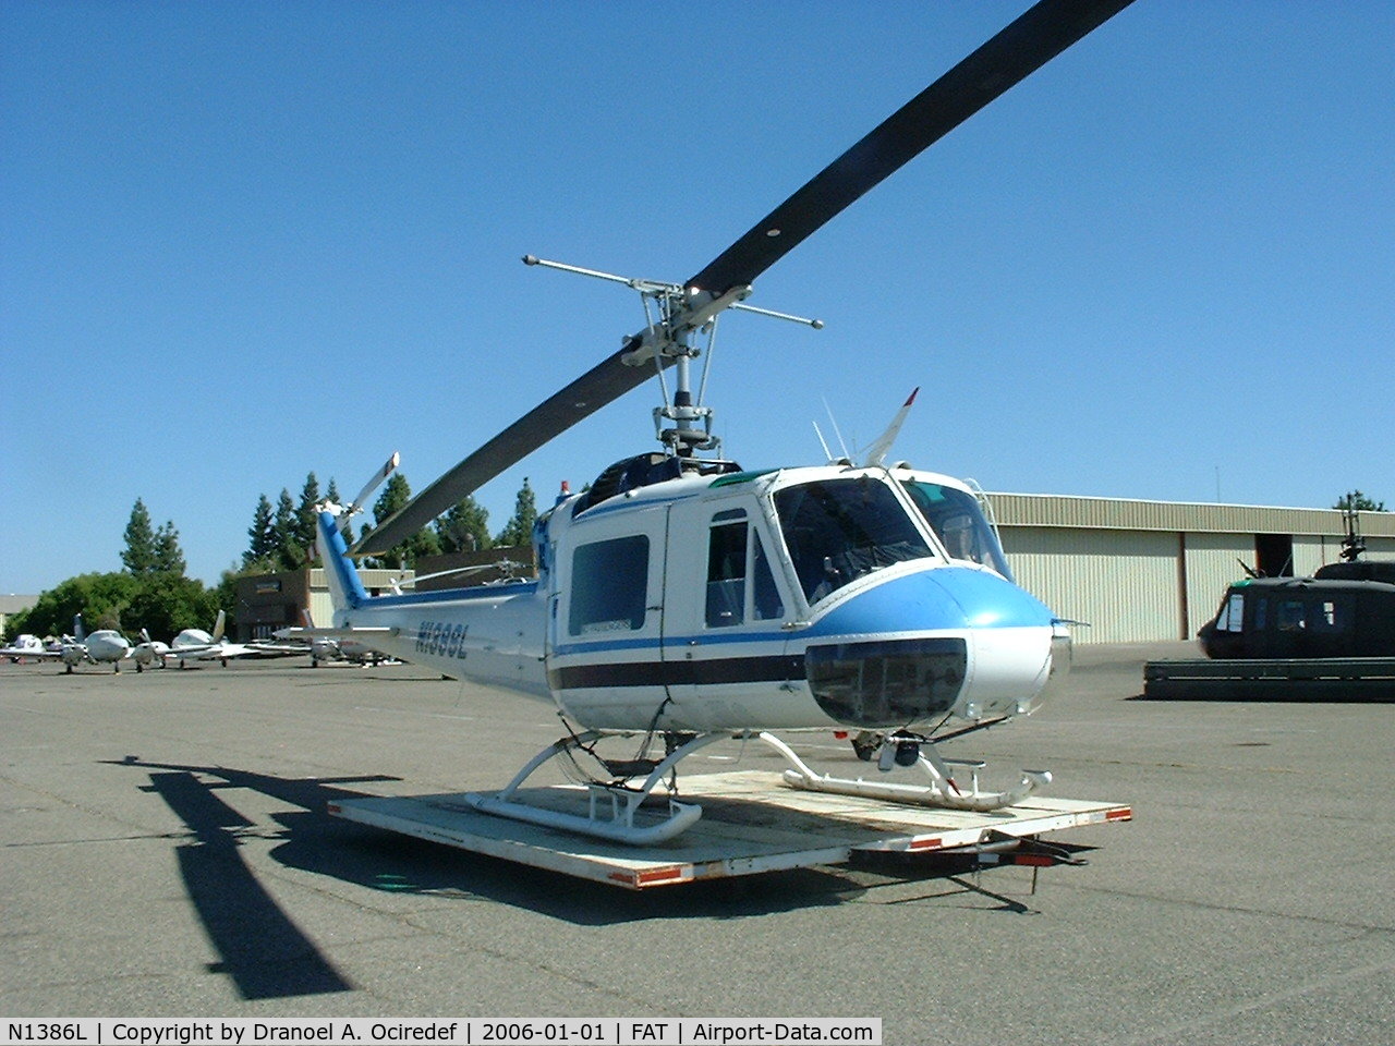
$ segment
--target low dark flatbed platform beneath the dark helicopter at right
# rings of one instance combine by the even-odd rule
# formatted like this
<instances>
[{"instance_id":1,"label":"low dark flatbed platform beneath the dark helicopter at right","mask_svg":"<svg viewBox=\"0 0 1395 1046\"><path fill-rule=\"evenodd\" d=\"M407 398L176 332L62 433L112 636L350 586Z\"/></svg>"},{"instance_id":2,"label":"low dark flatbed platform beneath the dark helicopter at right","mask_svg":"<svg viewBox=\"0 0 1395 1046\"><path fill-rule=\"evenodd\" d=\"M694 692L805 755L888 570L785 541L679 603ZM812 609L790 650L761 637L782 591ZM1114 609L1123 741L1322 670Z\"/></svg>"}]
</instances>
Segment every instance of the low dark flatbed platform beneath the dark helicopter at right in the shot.
<instances>
[{"instance_id":1,"label":"low dark flatbed platform beneath the dark helicopter at right","mask_svg":"<svg viewBox=\"0 0 1395 1046\"><path fill-rule=\"evenodd\" d=\"M1148 661L1143 679L1162 700L1395 702L1395 657Z\"/></svg>"}]
</instances>

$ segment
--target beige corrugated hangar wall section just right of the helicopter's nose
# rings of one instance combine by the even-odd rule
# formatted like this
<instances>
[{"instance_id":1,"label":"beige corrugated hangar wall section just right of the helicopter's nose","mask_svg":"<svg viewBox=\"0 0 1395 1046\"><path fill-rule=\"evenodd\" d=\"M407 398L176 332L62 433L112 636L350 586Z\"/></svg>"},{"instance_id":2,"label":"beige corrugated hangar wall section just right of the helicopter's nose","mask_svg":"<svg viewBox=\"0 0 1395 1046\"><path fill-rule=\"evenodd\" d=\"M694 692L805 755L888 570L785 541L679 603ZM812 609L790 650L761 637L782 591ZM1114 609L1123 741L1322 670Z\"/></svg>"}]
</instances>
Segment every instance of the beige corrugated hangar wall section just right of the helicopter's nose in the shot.
<instances>
[{"instance_id":1,"label":"beige corrugated hangar wall section just right of the helicopter's nose","mask_svg":"<svg viewBox=\"0 0 1395 1046\"><path fill-rule=\"evenodd\" d=\"M1141 530L1002 527L1017 582L1062 618L1077 643L1182 637L1180 541Z\"/></svg>"}]
</instances>

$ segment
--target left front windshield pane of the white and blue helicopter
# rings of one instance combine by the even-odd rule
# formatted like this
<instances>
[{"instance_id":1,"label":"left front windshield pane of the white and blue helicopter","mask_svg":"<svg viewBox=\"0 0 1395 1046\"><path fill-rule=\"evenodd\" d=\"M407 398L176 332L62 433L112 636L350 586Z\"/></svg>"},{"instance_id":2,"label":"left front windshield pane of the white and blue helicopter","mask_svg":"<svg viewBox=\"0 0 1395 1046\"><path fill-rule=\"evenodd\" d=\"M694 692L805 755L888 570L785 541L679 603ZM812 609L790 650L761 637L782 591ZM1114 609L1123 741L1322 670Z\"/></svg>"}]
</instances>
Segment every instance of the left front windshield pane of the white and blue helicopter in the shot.
<instances>
[{"instance_id":1,"label":"left front windshield pane of the white and blue helicopter","mask_svg":"<svg viewBox=\"0 0 1395 1046\"><path fill-rule=\"evenodd\" d=\"M876 477L785 487L774 502L810 604L883 566L933 555L901 501Z\"/></svg>"}]
</instances>

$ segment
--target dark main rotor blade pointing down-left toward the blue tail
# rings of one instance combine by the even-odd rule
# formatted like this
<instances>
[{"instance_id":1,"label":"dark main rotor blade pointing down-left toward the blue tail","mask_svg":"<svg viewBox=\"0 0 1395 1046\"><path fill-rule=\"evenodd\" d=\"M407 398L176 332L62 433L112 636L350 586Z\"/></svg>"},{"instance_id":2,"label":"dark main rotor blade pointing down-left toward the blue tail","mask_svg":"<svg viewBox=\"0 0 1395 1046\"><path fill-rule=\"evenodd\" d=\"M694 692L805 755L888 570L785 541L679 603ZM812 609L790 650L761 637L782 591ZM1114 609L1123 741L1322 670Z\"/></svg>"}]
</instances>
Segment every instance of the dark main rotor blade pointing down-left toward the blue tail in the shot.
<instances>
[{"instance_id":1,"label":"dark main rotor blade pointing down-left toward the blue tail","mask_svg":"<svg viewBox=\"0 0 1395 1046\"><path fill-rule=\"evenodd\" d=\"M631 367L621 363L625 351L628 350L621 349L551 399L533 407L378 527L364 534L350 554L357 556L386 552L552 437L643 385L653 377L653 365Z\"/></svg>"}]
</instances>

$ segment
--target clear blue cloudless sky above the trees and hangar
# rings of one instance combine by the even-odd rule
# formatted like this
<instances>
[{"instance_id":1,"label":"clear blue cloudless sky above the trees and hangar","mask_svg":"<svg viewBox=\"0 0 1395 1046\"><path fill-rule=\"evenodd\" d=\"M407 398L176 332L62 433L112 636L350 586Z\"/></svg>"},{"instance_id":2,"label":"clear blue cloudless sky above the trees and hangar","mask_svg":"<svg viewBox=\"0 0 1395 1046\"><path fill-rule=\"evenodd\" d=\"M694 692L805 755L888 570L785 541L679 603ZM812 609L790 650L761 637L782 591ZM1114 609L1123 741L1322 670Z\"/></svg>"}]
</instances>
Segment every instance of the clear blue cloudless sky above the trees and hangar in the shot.
<instances>
[{"instance_id":1,"label":"clear blue cloudless sky above the trees and hangar","mask_svg":"<svg viewBox=\"0 0 1395 1046\"><path fill-rule=\"evenodd\" d=\"M1028 4L0 3L0 591L216 582L257 498L421 488ZM1140 0L724 319L746 467L866 444L988 490L1395 505L1395 6ZM656 446L644 386L478 492Z\"/></svg>"}]
</instances>

